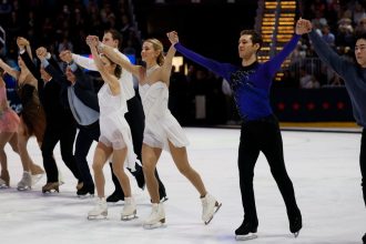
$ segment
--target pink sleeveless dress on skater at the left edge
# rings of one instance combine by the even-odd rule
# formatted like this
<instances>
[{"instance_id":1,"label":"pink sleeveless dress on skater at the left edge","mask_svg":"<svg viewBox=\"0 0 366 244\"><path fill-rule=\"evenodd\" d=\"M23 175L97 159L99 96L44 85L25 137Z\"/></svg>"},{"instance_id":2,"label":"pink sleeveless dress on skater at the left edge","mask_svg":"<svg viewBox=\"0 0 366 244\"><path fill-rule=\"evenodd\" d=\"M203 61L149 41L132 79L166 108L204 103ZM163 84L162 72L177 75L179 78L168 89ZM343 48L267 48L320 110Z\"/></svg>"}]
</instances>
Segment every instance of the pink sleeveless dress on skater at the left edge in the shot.
<instances>
[{"instance_id":1,"label":"pink sleeveless dress on skater at the left edge","mask_svg":"<svg viewBox=\"0 0 366 244\"><path fill-rule=\"evenodd\" d=\"M8 104L6 87L0 88L0 104ZM0 108L0 132L17 132L19 122L18 114L9 105Z\"/></svg>"}]
</instances>

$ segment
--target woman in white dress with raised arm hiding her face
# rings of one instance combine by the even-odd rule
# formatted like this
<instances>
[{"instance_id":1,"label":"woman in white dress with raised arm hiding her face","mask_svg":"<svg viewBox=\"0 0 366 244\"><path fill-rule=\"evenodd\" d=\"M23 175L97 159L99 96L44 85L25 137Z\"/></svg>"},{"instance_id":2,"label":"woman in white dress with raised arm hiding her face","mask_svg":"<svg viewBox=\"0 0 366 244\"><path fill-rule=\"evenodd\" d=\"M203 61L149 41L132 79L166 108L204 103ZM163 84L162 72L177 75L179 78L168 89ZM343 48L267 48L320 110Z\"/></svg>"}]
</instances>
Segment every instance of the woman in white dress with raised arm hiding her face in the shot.
<instances>
[{"instance_id":1,"label":"woman in white dress with raised arm hiding her face","mask_svg":"<svg viewBox=\"0 0 366 244\"><path fill-rule=\"evenodd\" d=\"M101 135L93 159L98 201L95 207L88 213L88 217L95 218L108 215L103 166L111 156L113 172L124 192L124 206L121 218L130 220L135 217L136 205L132 197L130 180L123 166L134 171L136 155L133 152L130 126L124 119L124 113L128 112L126 100L121 90L122 85L118 80L121 75L121 67L111 62L106 57L99 55L96 50L98 40L89 38L87 43L94 57L98 71L104 81L103 87L98 92Z\"/></svg>"}]
</instances>

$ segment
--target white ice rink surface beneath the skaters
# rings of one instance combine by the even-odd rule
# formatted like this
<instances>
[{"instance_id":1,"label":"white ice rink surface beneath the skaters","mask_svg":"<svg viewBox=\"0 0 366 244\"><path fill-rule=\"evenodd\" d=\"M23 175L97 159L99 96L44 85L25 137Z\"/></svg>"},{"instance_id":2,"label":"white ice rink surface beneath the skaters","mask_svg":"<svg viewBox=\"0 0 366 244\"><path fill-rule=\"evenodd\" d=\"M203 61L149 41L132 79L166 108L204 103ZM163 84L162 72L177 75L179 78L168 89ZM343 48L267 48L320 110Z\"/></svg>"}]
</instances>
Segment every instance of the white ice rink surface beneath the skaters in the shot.
<instances>
[{"instance_id":1,"label":"white ice rink surface beneath the skaters","mask_svg":"<svg viewBox=\"0 0 366 244\"><path fill-rule=\"evenodd\" d=\"M150 214L148 191L138 189L130 177L138 202L139 218L120 220L122 202L109 205L109 217L87 220L94 199L75 196L77 181L61 161L59 145L55 159L63 181L60 193L42 194L43 177L29 192L18 192L22 174L19 156L7 145L11 187L0 191L1 244L59 243L237 243L234 230L241 224L243 209L238 187L238 129L184 129L191 144L187 148L192 166L200 172L207 190L223 206L210 225L201 221L201 202L194 187L177 172L166 152L157 169L165 184L166 227L143 230ZM283 132L286 167L303 213L304 227L297 238L288 230L285 205L261 154L254 190L260 218L258 238L253 244L352 244L362 243L366 232L366 210L360 189L358 163L360 133ZM93 156L90 151L90 165ZM42 165L34 139L29 143L34 162ZM112 193L110 167L105 165L105 192ZM131 174L129 174L131 176Z\"/></svg>"}]
</instances>

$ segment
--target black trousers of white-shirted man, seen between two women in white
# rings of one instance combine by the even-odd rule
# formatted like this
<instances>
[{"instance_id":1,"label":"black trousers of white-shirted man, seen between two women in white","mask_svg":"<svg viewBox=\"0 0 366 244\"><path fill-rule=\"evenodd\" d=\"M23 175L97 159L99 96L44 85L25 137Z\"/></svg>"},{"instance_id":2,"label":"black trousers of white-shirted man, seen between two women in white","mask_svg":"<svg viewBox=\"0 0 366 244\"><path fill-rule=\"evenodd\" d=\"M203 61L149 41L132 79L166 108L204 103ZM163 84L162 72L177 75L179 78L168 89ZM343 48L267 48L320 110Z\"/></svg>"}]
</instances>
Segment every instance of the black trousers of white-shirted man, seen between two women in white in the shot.
<instances>
[{"instance_id":1,"label":"black trousers of white-shirted man, seen between two women in white","mask_svg":"<svg viewBox=\"0 0 366 244\"><path fill-rule=\"evenodd\" d=\"M124 118L128 121L131 129L134 153L138 155L138 159L142 163L141 151L142 151L142 142L143 142L143 131L145 128L145 115L143 112L141 98L138 91L135 92L135 96L128 100L128 109L129 112L124 114ZM143 171L136 164L136 171L131 173L143 174ZM159 183L159 189L165 191L165 187L161 182L156 170L155 170L155 176Z\"/></svg>"}]
</instances>

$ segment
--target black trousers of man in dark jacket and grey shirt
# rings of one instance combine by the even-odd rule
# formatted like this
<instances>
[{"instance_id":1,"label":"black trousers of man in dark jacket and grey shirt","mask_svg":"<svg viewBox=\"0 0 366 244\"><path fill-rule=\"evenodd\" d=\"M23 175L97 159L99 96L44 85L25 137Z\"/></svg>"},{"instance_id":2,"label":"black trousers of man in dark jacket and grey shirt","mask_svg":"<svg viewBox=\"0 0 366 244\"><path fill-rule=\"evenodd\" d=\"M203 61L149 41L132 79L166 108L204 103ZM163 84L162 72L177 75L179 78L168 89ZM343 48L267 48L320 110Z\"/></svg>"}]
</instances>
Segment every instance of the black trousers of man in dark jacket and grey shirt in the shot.
<instances>
[{"instance_id":1,"label":"black trousers of man in dark jacket and grey shirt","mask_svg":"<svg viewBox=\"0 0 366 244\"><path fill-rule=\"evenodd\" d=\"M80 175L82 182L87 186L93 186L93 177L90 173L89 164L87 161L87 156L92 145L93 141L99 141L99 136L101 134L99 128L99 120L93 124L83 126L79 125L79 133L75 140L75 160L80 171Z\"/></svg>"}]
</instances>

